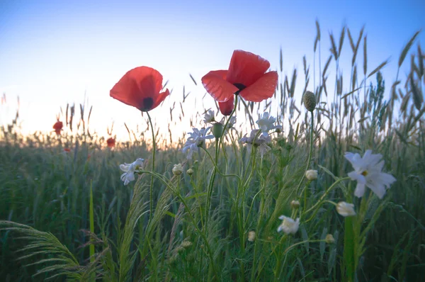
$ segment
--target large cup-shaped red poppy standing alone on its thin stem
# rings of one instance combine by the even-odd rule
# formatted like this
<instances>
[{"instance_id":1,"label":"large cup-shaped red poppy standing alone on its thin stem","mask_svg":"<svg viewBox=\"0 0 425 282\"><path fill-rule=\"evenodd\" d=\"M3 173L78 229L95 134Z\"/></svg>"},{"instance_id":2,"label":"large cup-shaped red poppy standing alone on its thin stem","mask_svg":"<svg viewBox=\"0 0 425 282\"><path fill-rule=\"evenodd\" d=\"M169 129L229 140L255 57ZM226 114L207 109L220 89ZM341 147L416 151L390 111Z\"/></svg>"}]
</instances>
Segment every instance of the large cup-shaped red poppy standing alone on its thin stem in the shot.
<instances>
[{"instance_id":1,"label":"large cup-shaped red poppy standing alone on its thin stem","mask_svg":"<svg viewBox=\"0 0 425 282\"><path fill-rule=\"evenodd\" d=\"M162 89L162 74L151 67L131 69L113 86L110 95L140 111L150 111L164 101L170 92Z\"/></svg>"}]
</instances>

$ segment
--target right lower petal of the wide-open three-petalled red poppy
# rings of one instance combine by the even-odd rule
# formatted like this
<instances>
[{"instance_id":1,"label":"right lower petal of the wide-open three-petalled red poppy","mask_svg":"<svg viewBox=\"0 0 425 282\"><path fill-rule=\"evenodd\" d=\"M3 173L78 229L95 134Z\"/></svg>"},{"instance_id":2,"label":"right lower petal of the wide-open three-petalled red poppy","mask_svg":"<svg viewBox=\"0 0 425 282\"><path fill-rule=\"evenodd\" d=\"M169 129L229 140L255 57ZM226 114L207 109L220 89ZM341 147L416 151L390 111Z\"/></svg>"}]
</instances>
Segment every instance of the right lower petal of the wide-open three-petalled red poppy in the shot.
<instances>
[{"instance_id":1,"label":"right lower petal of the wide-open three-petalled red poppy","mask_svg":"<svg viewBox=\"0 0 425 282\"><path fill-rule=\"evenodd\" d=\"M246 101L261 102L273 96L276 86L278 86L278 72L268 72L254 84L242 90L239 95Z\"/></svg>"}]
</instances>

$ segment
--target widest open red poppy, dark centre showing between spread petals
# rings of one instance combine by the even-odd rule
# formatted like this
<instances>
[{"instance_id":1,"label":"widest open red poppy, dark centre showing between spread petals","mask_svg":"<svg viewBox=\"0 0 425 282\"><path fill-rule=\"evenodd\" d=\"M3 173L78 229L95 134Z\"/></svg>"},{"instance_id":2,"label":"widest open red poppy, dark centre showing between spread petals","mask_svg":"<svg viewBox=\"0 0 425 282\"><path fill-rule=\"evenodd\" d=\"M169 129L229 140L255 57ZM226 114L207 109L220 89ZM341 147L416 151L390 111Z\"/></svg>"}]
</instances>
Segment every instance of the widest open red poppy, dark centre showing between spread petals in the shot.
<instances>
[{"instance_id":1,"label":"widest open red poppy, dark centre showing between spread petals","mask_svg":"<svg viewBox=\"0 0 425 282\"><path fill-rule=\"evenodd\" d=\"M271 98L278 85L278 72L266 72L269 67L270 63L259 55L234 50L229 69L208 72L202 83L218 102L229 101L233 94L261 102Z\"/></svg>"}]
</instances>

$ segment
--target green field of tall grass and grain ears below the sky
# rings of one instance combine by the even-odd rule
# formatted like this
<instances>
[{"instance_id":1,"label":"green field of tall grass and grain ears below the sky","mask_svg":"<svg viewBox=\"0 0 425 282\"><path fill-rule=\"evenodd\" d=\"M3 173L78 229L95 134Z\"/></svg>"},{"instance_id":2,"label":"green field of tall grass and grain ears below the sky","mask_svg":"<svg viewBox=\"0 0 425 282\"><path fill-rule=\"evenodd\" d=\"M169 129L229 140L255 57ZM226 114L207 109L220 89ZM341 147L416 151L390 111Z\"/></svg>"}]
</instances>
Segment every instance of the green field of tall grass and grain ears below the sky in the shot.
<instances>
[{"instance_id":1,"label":"green field of tall grass and grain ears below the sky","mask_svg":"<svg viewBox=\"0 0 425 282\"><path fill-rule=\"evenodd\" d=\"M368 66L363 30L357 37L344 28L320 54L326 60L312 69L304 61L305 89L295 89L295 71L279 76L272 102L237 99L233 116L246 123L205 140L191 159L181 152L188 135L172 146L157 137L153 151L147 131L109 148L83 126L87 111L61 135L23 136L17 115L0 132L1 280L422 281L425 56L416 35L397 61L410 65L409 76L385 81L386 62ZM349 84L328 70L339 68L343 45L353 55ZM295 106L309 89L311 112L311 101ZM283 131L239 142L263 111ZM203 126L212 125L194 125ZM346 153L367 150L382 154L382 171L396 179L383 198L370 188L354 194ZM124 185L120 164L137 158L135 181ZM356 175L373 185L379 165L368 164Z\"/></svg>"}]
</instances>

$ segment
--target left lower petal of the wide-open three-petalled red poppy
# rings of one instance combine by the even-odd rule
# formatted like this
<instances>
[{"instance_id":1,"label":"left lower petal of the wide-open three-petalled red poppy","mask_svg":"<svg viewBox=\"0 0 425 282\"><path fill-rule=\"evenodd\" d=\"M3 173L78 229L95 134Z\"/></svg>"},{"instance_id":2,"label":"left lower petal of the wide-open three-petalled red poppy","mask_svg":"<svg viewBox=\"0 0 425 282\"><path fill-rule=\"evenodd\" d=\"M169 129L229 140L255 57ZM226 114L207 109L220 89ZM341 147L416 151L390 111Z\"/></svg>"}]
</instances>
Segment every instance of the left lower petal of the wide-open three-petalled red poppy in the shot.
<instances>
[{"instance_id":1,"label":"left lower petal of the wide-open three-petalled red poppy","mask_svg":"<svg viewBox=\"0 0 425 282\"><path fill-rule=\"evenodd\" d=\"M218 102L229 101L239 89L226 81L227 70L208 72L203 76L202 84L207 92Z\"/></svg>"}]
</instances>

